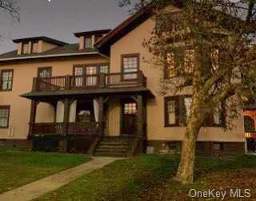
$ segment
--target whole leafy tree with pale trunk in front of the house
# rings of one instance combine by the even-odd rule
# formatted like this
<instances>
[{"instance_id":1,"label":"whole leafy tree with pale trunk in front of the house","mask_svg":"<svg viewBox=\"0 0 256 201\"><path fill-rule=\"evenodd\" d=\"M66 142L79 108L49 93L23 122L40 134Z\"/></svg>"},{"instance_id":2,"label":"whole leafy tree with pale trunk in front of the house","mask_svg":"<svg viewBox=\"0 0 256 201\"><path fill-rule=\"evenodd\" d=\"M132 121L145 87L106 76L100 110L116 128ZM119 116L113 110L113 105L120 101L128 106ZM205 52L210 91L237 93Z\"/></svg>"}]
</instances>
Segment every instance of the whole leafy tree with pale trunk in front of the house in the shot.
<instances>
[{"instance_id":1,"label":"whole leafy tree with pale trunk in front of the house","mask_svg":"<svg viewBox=\"0 0 256 201\"><path fill-rule=\"evenodd\" d=\"M182 9L164 9L170 5ZM162 93L190 89L192 96L176 176L191 183L200 129L216 114L223 129L234 128L243 104L255 97L255 1L153 0L150 6L157 23L144 45L166 71Z\"/></svg>"}]
</instances>

